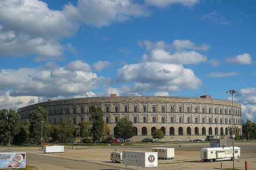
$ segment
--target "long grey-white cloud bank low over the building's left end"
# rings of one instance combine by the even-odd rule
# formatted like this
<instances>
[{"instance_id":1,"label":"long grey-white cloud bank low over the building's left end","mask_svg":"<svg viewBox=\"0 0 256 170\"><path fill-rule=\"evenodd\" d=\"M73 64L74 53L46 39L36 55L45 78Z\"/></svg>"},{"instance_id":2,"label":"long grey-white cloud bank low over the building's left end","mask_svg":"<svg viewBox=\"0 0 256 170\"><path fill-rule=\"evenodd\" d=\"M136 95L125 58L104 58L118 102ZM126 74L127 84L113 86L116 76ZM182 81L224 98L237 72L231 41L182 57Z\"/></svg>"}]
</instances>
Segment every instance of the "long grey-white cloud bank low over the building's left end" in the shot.
<instances>
[{"instance_id":1,"label":"long grey-white cloud bank low over the building's left end","mask_svg":"<svg viewBox=\"0 0 256 170\"><path fill-rule=\"evenodd\" d=\"M74 66L74 63L77 66ZM49 65L54 67L50 68ZM16 104L15 108L25 106L31 101L37 102L39 98L47 99L49 90L52 98L92 96L91 90L98 89L102 84L109 84L111 79L98 77L88 66L87 63L75 61L66 67L58 67L51 62L33 69L2 69L0 79L5 81L0 81L0 92L3 95L0 103L3 105L6 102L22 101ZM11 103L6 104L9 105L11 106Z\"/></svg>"}]
</instances>

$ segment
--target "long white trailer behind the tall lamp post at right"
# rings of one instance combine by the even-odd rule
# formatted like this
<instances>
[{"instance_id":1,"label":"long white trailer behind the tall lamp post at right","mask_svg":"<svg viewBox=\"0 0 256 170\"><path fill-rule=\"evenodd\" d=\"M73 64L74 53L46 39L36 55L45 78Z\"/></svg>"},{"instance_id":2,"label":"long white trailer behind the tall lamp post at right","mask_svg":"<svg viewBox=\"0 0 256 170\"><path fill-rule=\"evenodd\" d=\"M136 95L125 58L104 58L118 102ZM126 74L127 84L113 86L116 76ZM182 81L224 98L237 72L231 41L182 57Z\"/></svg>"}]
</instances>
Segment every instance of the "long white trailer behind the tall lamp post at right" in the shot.
<instances>
[{"instance_id":1,"label":"long white trailer behind the tall lamp post at right","mask_svg":"<svg viewBox=\"0 0 256 170\"><path fill-rule=\"evenodd\" d=\"M241 157L241 148L234 147L235 149L235 159ZM233 159L233 147L218 147L218 148L202 148L201 149L201 159L204 162L213 162L219 160L232 160Z\"/></svg>"}]
</instances>

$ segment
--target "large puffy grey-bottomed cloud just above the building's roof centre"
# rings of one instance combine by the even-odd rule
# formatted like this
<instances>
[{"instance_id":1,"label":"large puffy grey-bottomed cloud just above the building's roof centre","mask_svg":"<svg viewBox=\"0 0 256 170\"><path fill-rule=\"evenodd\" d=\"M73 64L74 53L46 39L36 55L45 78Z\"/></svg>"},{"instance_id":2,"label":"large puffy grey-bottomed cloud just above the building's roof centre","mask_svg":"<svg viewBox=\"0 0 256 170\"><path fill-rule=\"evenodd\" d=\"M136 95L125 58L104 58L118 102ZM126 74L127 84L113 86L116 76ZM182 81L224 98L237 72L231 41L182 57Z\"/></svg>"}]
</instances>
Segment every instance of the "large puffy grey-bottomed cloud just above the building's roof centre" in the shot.
<instances>
[{"instance_id":1,"label":"large puffy grey-bottomed cloud just above the building's roof centre","mask_svg":"<svg viewBox=\"0 0 256 170\"><path fill-rule=\"evenodd\" d=\"M182 89L198 89L202 80L194 72L182 65L145 62L125 65L117 71L117 82L131 82L149 84L141 86L143 89L177 92Z\"/></svg>"}]
</instances>

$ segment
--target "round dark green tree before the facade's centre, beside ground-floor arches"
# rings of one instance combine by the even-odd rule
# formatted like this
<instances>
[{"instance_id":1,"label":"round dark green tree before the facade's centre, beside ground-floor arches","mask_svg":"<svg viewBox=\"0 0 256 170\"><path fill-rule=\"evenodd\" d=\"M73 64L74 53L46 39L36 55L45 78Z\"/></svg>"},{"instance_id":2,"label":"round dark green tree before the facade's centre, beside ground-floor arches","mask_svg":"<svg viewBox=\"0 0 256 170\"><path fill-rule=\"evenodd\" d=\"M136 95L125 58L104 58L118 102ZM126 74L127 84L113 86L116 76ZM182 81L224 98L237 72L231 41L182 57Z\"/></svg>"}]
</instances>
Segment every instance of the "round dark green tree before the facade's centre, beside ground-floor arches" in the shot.
<instances>
[{"instance_id":1,"label":"round dark green tree before the facade's centre, beside ground-floor arches","mask_svg":"<svg viewBox=\"0 0 256 170\"><path fill-rule=\"evenodd\" d=\"M136 134L136 129L132 125L131 121L128 121L127 118L123 117L116 123L114 129L114 135L116 139L121 139L122 142L126 139L132 138Z\"/></svg>"}]
</instances>

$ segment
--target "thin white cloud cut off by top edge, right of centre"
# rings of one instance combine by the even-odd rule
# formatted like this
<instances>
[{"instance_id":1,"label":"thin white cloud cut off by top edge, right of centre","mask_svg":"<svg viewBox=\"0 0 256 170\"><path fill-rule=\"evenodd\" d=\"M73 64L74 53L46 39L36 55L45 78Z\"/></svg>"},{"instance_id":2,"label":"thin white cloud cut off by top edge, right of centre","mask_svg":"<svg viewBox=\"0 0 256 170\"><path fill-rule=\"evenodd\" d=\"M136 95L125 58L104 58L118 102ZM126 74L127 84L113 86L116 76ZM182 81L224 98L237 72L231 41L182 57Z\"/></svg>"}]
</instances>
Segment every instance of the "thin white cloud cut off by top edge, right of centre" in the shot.
<instances>
[{"instance_id":1,"label":"thin white cloud cut off by top edge, right of centre","mask_svg":"<svg viewBox=\"0 0 256 170\"><path fill-rule=\"evenodd\" d=\"M154 5L157 7L166 7L172 4L181 4L183 6L193 7L196 4L200 3L199 0L145 0L149 5Z\"/></svg>"}]
</instances>

